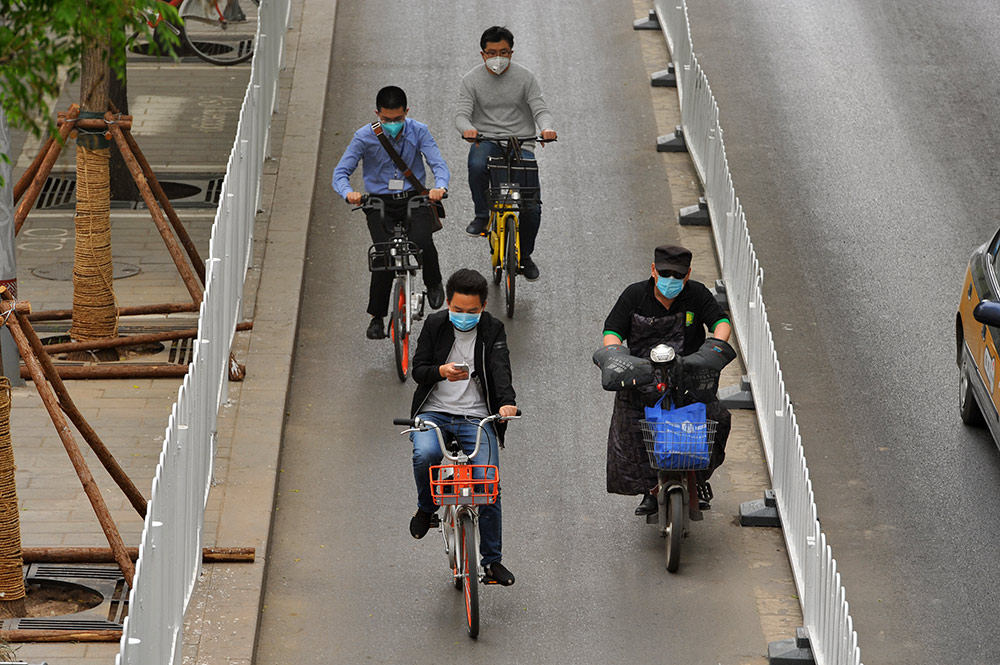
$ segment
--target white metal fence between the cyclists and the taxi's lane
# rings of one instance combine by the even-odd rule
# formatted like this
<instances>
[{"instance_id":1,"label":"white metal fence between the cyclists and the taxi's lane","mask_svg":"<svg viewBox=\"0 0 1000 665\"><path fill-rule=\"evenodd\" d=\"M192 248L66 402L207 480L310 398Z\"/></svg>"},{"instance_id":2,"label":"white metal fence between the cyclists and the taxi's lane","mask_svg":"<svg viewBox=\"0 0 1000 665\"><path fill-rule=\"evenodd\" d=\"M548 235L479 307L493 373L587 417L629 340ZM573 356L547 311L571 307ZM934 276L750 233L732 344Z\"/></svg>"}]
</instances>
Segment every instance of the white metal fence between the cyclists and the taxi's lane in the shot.
<instances>
[{"instance_id":1,"label":"white metal fence between the cyclists and the taxi's lane","mask_svg":"<svg viewBox=\"0 0 1000 665\"><path fill-rule=\"evenodd\" d=\"M719 107L691 45L685 0L655 0L681 102L688 151L701 178L733 325L753 388L757 420L813 656L818 665L860 665L861 651L833 552L816 519L809 469L785 391L767 309L763 271L733 188Z\"/></svg>"}]
</instances>

